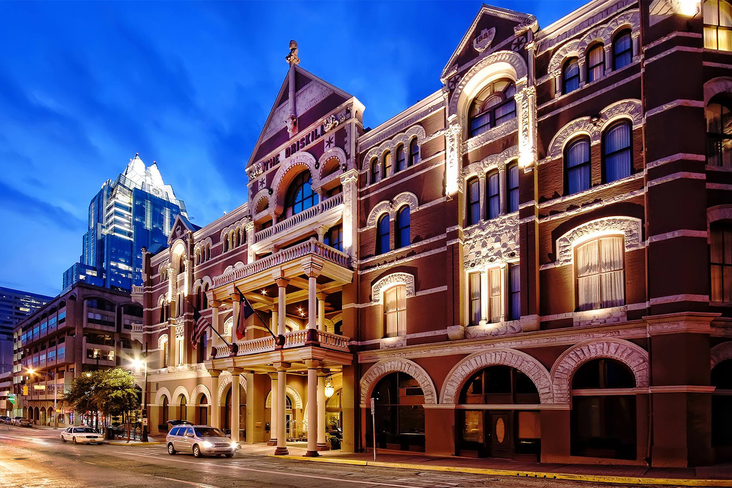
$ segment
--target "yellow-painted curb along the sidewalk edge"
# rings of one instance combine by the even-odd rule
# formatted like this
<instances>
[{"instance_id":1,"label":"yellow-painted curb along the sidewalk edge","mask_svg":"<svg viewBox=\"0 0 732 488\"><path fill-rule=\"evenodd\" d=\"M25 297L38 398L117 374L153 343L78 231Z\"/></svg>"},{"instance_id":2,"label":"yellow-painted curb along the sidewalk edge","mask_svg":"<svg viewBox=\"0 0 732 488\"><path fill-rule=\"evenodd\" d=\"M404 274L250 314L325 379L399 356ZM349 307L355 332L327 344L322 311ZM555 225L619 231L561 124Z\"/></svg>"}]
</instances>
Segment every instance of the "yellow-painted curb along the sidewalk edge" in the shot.
<instances>
[{"instance_id":1,"label":"yellow-painted curb along the sidewalk edge","mask_svg":"<svg viewBox=\"0 0 732 488\"><path fill-rule=\"evenodd\" d=\"M402 468L422 471L448 471L452 473L470 473L489 476L512 476L520 478L566 479L571 481L594 481L595 483L665 485L674 487L732 487L732 479L639 478L633 476L582 475L572 473L545 473L542 471L512 471L484 468L463 468L460 466L421 465L409 464L406 462L374 462L362 461L360 459L337 459L329 457L275 456L275 454L267 454L267 457L274 457L279 459L294 459L296 461L329 462L332 464L341 465L375 466L379 468Z\"/></svg>"}]
</instances>

